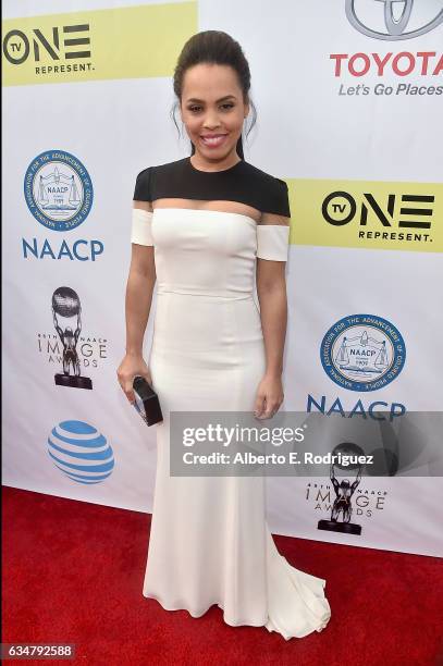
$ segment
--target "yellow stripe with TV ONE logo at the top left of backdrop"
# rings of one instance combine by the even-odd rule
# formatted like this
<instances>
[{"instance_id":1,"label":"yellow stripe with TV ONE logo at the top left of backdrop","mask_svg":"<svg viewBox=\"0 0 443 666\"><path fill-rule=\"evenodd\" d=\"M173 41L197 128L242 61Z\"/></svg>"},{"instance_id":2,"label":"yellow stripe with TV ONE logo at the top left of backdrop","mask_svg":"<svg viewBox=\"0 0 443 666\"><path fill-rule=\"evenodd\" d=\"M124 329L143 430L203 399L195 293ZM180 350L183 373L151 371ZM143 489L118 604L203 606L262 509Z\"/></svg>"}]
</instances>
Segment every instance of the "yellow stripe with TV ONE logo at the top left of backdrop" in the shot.
<instances>
[{"instance_id":1,"label":"yellow stripe with TV ONE logo at the top left of backdrop","mask_svg":"<svg viewBox=\"0 0 443 666\"><path fill-rule=\"evenodd\" d=\"M172 76L197 2L3 21L3 86Z\"/></svg>"}]
</instances>

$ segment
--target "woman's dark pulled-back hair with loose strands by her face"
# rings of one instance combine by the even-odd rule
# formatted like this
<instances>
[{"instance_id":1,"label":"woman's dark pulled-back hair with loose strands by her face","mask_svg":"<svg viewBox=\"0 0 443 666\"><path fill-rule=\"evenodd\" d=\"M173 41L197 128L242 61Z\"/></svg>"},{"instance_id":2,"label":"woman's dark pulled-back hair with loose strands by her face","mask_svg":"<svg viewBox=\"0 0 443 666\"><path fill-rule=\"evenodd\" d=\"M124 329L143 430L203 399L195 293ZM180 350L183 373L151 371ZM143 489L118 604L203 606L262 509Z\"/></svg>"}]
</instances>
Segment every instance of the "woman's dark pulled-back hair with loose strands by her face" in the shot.
<instances>
[{"instance_id":1,"label":"woman's dark pulled-back hair with loose strands by her face","mask_svg":"<svg viewBox=\"0 0 443 666\"><path fill-rule=\"evenodd\" d=\"M172 119L175 123L175 126L179 130L179 125L175 121L175 109L177 108L177 103L180 104L182 101L184 75L189 67L200 63L230 65L235 70L238 77L239 87L243 91L243 101L244 103L249 102L253 109L253 122L246 133L246 136L248 136L249 132L255 125L257 118L256 108L254 106L254 102L249 98L249 65L238 41L235 41L235 39L227 35L227 33L223 33L222 30L205 30L202 33L197 33L196 35L193 35L193 37L190 37L186 41L181 54L179 55L179 60L174 70L174 92L179 99L179 102L175 102L172 110ZM194 155L195 146L192 141L190 145L190 155ZM243 152L242 136L238 137L236 150L238 157L244 159L245 156Z\"/></svg>"}]
</instances>

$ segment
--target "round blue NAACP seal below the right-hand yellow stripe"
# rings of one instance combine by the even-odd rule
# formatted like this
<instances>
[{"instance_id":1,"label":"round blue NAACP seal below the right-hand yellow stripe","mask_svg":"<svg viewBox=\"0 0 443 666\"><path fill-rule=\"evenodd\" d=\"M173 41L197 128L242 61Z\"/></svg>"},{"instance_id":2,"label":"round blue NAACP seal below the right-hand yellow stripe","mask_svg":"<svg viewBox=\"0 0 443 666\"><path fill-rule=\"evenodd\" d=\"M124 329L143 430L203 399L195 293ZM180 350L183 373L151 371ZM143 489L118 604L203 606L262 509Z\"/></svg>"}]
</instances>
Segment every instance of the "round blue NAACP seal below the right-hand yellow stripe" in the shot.
<instances>
[{"instance_id":1,"label":"round blue NAACP seal below the right-hand yellow stripe","mask_svg":"<svg viewBox=\"0 0 443 666\"><path fill-rule=\"evenodd\" d=\"M402 372L406 348L399 331L374 314L352 314L324 335L321 362L328 377L349 391L377 391Z\"/></svg>"}]
</instances>

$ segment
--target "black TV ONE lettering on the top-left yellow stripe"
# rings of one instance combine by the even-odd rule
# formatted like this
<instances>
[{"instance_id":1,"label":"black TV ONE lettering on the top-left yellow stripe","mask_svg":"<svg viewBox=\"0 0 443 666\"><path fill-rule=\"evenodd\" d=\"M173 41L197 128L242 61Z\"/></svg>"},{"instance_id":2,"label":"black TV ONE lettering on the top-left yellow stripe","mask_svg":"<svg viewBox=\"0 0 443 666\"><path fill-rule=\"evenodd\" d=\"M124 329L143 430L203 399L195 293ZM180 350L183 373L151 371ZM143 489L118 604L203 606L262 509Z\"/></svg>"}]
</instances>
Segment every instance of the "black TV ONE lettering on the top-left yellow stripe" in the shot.
<instances>
[{"instance_id":1,"label":"black TV ONE lettering on the top-left yellow stripe","mask_svg":"<svg viewBox=\"0 0 443 666\"><path fill-rule=\"evenodd\" d=\"M51 35L44 35L39 28L28 34L13 29L3 37L3 55L13 65L23 64L29 58L40 62L42 54L53 61L90 58L88 32L88 23L56 26Z\"/></svg>"}]
</instances>

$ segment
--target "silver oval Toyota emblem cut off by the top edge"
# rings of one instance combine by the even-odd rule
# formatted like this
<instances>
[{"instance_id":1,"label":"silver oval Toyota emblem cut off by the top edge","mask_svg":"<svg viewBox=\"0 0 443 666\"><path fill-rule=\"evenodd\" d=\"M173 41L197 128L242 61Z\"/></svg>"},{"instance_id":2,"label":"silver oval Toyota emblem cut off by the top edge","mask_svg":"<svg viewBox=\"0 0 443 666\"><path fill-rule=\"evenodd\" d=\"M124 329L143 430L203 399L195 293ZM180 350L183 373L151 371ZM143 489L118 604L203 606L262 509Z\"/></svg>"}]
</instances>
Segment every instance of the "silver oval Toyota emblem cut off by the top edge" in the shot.
<instances>
[{"instance_id":1,"label":"silver oval Toyota emblem cut off by the top edge","mask_svg":"<svg viewBox=\"0 0 443 666\"><path fill-rule=\"evenodd\" d=\"M379 3L378 8L374 4L376 2ZM356 4L359 8L358 11L356 10ZM353 27L367 37L386 39L389 41L411 39L413 37L424 35L433 30L443 21L443 10L436 16L428 15L432 8L426 7L424 2L417 2L415 5L414 0L371 0L369 5L368 0L364 4L361 2L356 3L356 0L346 0L345 8L347 20ZM362 9L371 10L370 13L367 12L371 27L361 20ZM421 13L418 15L418 10L428 12L428 14ZM378 21L377 25L374 25L374 21ZM411 22L415 27L411 30L407 30Z\"/></svg>"}]
</instances>

